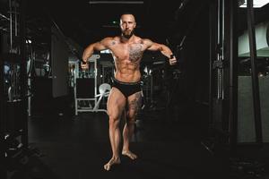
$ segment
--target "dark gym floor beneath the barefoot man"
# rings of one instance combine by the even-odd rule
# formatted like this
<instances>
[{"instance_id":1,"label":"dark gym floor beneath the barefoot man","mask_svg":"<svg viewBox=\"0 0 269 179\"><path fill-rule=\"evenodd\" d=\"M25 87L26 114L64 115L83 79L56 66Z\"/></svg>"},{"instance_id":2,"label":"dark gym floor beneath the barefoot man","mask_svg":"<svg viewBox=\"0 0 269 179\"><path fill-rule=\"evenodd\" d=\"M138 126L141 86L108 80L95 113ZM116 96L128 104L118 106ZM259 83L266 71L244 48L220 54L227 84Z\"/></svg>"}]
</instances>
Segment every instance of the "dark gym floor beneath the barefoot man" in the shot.
<instances>
[{"instance_id":1,"label":"dark gym floor beneath the barefoot man","mask_svg":"<svg viewBox=\"0 0 269 179\"><path fill-rule=\"evenodd\" d=\"M29 142L34 152L28 164L22 166L13 178L254 177L242 171L235 172L224 150L212 153L206 149L201 144L204 129L200 124L192 123L193 119L184 115L179 120L169 120L158 114L152 116L142 115L136 121L131 149L138 158L132 161L122 157L121 164L112 166L110 171L103 169L111 157L108 116L105 113L32 116Z\"/></svg>"}]
</instances>

